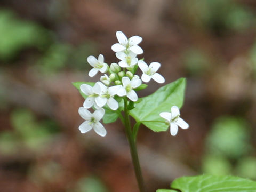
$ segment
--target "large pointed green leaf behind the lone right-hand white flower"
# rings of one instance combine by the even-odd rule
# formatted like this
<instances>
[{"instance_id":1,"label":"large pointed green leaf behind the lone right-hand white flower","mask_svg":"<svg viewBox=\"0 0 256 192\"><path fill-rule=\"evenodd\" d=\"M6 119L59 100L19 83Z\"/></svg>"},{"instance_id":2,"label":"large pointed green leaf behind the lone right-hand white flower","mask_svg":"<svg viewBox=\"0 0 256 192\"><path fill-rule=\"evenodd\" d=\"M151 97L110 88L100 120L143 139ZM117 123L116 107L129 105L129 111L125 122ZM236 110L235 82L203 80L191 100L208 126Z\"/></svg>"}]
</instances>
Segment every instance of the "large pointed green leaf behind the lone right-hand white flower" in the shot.
<instances>
[{"instance_id":1,"label":"large pointed green leaf behind the lone right-hand white flower","mask_svg":"<svg viewBox=\"0 0 256 192\"><path fill-rule=\"evenodd\" d=\"M166 131L168 125L165 124L165 120L159 114L163 111L170 112L174 105L179 108L183 105L185 87L186 79L180 78L159 88L155 93L142 98L140 103L134 103L135 108L130 111L130 115L152 131Z\"/></svg>"}]
</instances>

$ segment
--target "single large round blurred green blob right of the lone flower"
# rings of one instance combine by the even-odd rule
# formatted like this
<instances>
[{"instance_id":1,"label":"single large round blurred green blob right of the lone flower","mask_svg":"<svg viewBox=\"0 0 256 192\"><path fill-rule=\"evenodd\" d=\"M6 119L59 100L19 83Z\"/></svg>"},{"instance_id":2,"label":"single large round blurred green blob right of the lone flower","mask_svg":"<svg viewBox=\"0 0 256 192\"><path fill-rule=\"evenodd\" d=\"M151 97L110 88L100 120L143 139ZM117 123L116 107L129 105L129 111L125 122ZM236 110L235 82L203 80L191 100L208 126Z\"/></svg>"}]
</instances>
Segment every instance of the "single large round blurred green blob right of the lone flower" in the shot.
<instances>
[{"instance_id":1,"label":"single large round blurred green blob right of the lone flower","mask_svg":"<svg viewBox=\"0 0 256 192\"><path fill-rule=\"evenodd\" d=\"M249 153L250 129L242 118L219 117L206 139L206 147L213 154L237 159Z\"/></svg>"}]
</instances>

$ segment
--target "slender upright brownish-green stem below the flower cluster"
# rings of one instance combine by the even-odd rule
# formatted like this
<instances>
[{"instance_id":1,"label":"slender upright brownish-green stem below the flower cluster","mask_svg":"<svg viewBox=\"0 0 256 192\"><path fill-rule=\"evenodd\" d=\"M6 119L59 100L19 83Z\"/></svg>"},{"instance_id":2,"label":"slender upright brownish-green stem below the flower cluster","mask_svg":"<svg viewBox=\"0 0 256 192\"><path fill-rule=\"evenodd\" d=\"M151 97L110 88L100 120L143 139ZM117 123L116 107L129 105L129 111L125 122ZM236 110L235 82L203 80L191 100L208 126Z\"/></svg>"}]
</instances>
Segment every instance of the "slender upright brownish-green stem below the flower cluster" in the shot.
<instances>
[{"instance_id":1,"label":"slender upright brownish-green stem below the flower cluster","mask_svg":"<svg viewBox=\"0 0 256 192\"><path fill-rule=\"evenodd\" d=\"M131 123L129 118L129 110L127 110L127 98L124 98L124 125L125 125L125 133L126 137L129 141L130 145L130 152L132 156L132 163L134 166L134 171L136 175L136 179L138 182L138 186L140 189L140 192L146 192L145 184L142 178L141 169L140 169L140 162L138 158L138 152L136 147L136 141L133 139L133 134L131 130Z\"/></svg>"}]
</instances>

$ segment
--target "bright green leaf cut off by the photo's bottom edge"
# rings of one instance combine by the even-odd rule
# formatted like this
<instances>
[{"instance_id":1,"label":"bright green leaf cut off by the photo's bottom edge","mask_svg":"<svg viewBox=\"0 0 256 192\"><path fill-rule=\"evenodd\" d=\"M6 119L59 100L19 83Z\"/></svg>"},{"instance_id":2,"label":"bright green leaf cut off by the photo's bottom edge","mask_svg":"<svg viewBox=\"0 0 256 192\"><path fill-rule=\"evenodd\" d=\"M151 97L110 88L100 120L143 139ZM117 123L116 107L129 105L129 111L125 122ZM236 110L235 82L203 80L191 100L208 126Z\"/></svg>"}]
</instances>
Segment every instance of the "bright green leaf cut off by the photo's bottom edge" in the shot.
<instances>
[{"instance_id":1,"label":"bright green leaf cut off by the photo's bottom edge","mask_svg":"<svg viewBox=\"0 0 256 192\"><path fill-rule=\"evenodd\" d=\"M216 176L205 174L175 179L171 184L171 188L179 189L182 192L254 192L256 191L256 182L230 175ZM168 192L170 191L172 190ZM158 190L157 192L163 191Z\"/></svg>"}]
</instances>

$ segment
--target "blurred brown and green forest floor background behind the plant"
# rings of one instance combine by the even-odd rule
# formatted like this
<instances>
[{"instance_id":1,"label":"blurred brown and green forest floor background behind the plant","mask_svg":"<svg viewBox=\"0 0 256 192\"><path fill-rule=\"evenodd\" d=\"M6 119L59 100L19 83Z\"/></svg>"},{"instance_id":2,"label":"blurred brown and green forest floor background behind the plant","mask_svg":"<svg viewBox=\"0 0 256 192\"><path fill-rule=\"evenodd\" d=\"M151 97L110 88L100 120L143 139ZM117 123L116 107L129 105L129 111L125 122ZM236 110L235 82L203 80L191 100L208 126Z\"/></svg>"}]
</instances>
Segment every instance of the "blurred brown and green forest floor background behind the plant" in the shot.
<instances>
[{"instance_id":1,"label":"blurred brown and green forest floor background behind the plant","mask_svg":"<svg viewBox=\"0 0 256 192\"><path fill-rule=\"evenodd\" d=\"M187 78L176 137L141 126L148 191L182 175L256 179L254 0L1 0L0 191L138 191L120 121L81 134L83 98L71 85L87 57L117 62L115 32L139 35L166 83ZM162 86L149 83L143 97Z\"/></svg>"}]
</instances>

